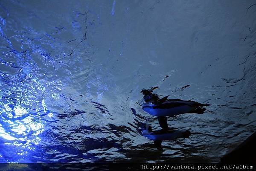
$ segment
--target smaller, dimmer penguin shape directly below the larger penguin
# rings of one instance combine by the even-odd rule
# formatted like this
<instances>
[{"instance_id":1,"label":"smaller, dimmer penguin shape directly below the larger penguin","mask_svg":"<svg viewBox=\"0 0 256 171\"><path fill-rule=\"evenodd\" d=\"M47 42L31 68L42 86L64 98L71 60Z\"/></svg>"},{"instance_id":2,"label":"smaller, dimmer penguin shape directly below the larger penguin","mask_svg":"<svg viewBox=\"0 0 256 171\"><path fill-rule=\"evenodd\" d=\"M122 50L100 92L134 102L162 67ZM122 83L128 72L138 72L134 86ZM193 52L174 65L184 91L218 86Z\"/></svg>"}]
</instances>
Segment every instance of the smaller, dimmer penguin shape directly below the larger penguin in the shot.
<instances>
[{"instance_id":1,"label":"smaller, dimmer penguin shape directly below the larger penguin","mask_svg":"<svg viewBox=\"0 0 256 171\"><path fill-rule=\"evenodd\" d=\"M163 150L162 141L175 140L177 138L188 138L191 133L189 130L156 130L152 131L151 126L145 125L142 135L154 141L154 145L158 150Z\"/></svg>"}]
</instances>

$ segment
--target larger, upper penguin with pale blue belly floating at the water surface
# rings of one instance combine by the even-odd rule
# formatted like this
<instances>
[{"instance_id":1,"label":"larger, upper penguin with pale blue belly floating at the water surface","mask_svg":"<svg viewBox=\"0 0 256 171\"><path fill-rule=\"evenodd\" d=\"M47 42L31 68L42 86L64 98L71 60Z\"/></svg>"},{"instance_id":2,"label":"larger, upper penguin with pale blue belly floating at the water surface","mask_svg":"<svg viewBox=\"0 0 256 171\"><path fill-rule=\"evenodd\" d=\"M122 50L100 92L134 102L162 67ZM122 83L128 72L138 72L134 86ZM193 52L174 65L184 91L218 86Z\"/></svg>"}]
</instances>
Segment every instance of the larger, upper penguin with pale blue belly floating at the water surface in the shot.
<instances>
[{"instance_id":1,"label":"larger, upper penguin with pale blue belly floating at the water surface","mask_svg":"<svg viewBox=\"0 0 256 171\"><path fill-rule=\"evenodd\" d=\"M175 116L183 113L198 113L203 114L206 110L204 106L210 104L201 104L195 101L184 101L180 99L167 99L168 96L162 99L157 94L152 93L152 90L142 90L145 100L142 108L153 116L158 116L158 121L163 129L167 129L167 118L165 116Z\"/></svg>"}]
</instances>

